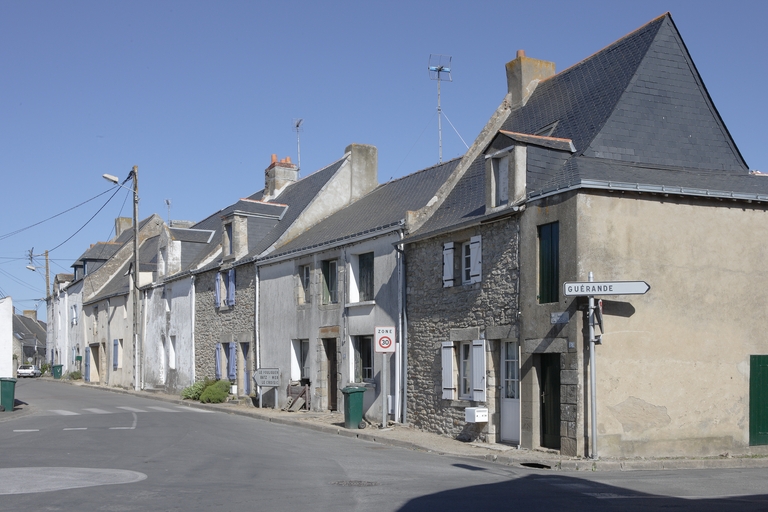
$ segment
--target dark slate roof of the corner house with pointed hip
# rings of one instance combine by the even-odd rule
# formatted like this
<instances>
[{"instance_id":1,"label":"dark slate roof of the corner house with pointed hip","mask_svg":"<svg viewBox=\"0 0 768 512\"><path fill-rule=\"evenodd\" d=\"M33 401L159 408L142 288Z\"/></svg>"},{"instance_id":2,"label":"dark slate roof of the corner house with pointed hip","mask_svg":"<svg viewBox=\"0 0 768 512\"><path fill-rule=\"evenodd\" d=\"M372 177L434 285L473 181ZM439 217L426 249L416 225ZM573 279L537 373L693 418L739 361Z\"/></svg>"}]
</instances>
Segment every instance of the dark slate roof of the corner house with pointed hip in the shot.
<instances>
[{"instance_id":1,"label":"dark slate roof of the corner house with pointed hip","mask_svg":"<svg viewBox=\"0 0 768 512\"><path fill-rule=\"evenodd\" d=\"M543 133L565 143L525 140ZM574 188L768 200L712 103L669 13L541 81L491 149L528 143L529 200ZM477 221L484 156L410 238Z\"/></svg>"}]
</instances>

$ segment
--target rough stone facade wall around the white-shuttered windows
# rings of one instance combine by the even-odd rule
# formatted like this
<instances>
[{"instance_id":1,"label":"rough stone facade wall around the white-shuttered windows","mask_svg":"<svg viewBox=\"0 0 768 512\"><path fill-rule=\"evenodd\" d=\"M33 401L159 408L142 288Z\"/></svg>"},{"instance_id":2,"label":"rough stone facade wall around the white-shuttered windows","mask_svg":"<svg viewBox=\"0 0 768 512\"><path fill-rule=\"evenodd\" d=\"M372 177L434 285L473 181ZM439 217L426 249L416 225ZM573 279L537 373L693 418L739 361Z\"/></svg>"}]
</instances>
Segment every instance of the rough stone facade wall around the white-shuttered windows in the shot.
<instances>
[{"instance_id":1,"label":"rough stone facade wall around the white-shuttered windows","mask_svg":"<svg viewBox=\"0 0 768 512\"><path fill-rule=\"evenodd\" d=\"M499 333L517 338L518 221L516 217L406 246L408 419L417 428L464 440L494 442L498 432ZM445 242L482 236L482 281L443 287ZM472 330L486 346L487 402L442 399L441 342ZM487 406L488 424L467 424L464 409Z\"/></svg>"}]
</instances>

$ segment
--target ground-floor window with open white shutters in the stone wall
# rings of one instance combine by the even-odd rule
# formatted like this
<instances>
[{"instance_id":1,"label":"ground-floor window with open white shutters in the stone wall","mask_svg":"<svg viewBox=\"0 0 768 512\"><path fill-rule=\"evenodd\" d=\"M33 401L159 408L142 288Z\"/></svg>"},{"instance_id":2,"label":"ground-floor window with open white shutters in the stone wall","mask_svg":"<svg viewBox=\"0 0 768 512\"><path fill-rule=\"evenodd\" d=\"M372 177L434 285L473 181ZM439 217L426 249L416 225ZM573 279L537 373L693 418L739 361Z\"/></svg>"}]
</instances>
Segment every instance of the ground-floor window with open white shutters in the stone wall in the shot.
<instances>
[{"instance_id":1,"label":"ground-floor window with open white shutters in the stone wall","mask_svg":"<svg viewBox=\"0 0 768 512\"><path fill-rule=\"evenodd\" d=\"M485 340L443 342L441 362L443 399L486 401Z\"/></svg>"}]
</instances>

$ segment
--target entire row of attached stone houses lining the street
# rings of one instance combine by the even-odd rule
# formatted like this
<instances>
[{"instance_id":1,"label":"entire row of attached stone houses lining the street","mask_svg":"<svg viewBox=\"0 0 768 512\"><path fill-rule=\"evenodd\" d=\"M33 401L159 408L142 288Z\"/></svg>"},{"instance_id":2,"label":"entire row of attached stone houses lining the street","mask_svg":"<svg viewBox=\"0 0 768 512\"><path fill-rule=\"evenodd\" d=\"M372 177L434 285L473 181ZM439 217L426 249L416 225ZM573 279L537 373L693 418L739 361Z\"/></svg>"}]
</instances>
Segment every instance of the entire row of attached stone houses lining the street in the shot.
<instances>
[{"instance_id":1,"label":"entire row of attached stone houses lining the street","mask_svg":"<svg viewBox=\"0 0 768 512\"><path fill-rule=\"evenodd\" d=\"M196 224L143 221L139 332L131 234L95 245L57 276L52 362L242 396L275 368L267 406L340 410L355 384L373 423L571 456L759 452L768 179L671 16L559 73L518 52L506 75L461 158L379 184L373 146L301 179L273 157L264 190ZM564 289L591 276L651 286L596 294L595 345L587 298Z\"/></svg>"}]
</instances>

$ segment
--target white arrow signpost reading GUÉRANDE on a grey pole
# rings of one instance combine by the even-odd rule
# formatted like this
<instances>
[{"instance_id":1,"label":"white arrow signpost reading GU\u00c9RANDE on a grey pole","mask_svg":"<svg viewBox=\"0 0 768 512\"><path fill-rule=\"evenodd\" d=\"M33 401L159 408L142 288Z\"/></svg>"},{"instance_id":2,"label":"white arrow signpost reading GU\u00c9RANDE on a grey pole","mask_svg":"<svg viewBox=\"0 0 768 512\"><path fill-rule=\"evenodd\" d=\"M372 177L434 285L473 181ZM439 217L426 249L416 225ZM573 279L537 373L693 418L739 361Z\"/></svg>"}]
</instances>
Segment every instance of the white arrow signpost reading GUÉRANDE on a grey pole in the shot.
<instances>
[{"instance_id":1,"label":"white arrow signpost reading GU\u00c9RANDE on a grey pole","mask_svg":"<svg viewBox=\"0 0 768 512\"><path fill-rule=\"evenodd\" d=\"M595 306L595 295L643 295L651 289L651 285L645 281L602 281L594 280L592 272L589 273L589 281L563 283L563 295L566 297L589 297L589 383L591 409L592 409L592 458L597 459L597 384L595 382L595 345L600 342L595 336L595 317L600 327L600 338L603 331L603 301L598 301Z\"/></svg>"}]
</instances>

